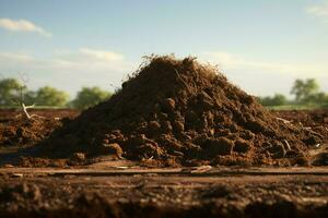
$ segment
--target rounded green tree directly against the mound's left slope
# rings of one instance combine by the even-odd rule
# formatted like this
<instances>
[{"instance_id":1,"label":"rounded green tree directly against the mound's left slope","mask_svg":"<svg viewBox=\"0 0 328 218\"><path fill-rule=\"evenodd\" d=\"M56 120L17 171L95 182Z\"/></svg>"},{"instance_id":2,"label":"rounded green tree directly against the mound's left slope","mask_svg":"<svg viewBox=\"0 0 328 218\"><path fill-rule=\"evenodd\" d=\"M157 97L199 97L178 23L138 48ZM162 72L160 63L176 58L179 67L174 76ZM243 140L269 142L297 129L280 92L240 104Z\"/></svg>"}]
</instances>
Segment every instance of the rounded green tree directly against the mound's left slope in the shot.
<instances>
[{"instance_id":1,"label":"rounded green tree directly against the mound's left slope","mask_svg":"<svg viewBox=\"0 0 328 218\"><path fill-rule=\"evenodd\" d=\"M86 109L108 99L110 96L112 94L109 92L103 90L99 87L83 87L71 105L78 109Z\"/></svg>"}]
</instances>

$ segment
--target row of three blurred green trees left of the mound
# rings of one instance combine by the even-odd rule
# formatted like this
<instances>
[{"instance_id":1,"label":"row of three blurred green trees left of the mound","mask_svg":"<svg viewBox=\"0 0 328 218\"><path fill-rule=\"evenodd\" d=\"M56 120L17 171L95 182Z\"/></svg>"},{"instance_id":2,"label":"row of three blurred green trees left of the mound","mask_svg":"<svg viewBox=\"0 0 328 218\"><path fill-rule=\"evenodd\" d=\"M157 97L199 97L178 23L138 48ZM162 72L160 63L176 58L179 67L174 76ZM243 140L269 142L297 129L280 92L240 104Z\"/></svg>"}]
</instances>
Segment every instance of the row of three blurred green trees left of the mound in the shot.
<instances>
[{"instance_id":1,"label":"row of three blurred green trees left of the mound","mask_svg":"<svg viewBox=\"0 0 328 218\"><path fill-rule=\"evenodd\" d=\"M42 107L86 109L110 96L112 93L99 87L83 87L75 98L70 100L69 94L51 86L31 90L24 82L16 78L0 80L0 107L16 107L17 101L24 101L25 105Z\"/></svg>"}]
</instances>

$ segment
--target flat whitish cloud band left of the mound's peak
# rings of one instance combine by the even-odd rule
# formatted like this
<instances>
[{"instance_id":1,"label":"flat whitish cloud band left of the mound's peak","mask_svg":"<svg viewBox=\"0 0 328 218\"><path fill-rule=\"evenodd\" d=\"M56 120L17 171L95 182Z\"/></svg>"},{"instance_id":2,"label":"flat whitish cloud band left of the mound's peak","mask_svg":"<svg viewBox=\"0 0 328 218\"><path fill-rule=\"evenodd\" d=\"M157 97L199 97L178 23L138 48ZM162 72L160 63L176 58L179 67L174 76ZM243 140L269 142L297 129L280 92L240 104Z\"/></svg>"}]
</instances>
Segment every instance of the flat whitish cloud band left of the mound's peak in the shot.
<instances>
[{"instance_id":1,"label":"flat whitish cloud band left of the mound's peak","mask_svg":"<svg viewBox=\"0 0 328 218\"><path fill-rule=\"evenodd\" d=\"M50 58L34 57L28 53L0 52L0 70L32 69L38 71L70 72L125 72L132 64L125 60L124 55L112 51L91 49L55 51Z\"/></svg>"}]
</instances>

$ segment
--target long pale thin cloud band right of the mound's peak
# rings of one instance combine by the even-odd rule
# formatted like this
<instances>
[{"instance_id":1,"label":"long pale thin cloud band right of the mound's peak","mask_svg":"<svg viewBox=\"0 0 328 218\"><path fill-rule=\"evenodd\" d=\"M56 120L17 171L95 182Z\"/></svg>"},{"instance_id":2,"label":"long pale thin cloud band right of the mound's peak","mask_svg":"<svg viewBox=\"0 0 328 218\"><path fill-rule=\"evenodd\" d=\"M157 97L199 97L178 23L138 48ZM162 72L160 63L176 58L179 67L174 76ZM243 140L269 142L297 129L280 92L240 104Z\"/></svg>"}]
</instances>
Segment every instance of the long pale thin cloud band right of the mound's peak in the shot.
<instances>
[{"instance_id":1,"label":"long pale thin cloud band right of the mound's peak","mask_svg":"<svg viewBox=\"0 0 328 218\"><path fill-rule=\"evenodd\" d=\"M305 75L325 75L328 65L314 63L277 63L266 61L247 60L229 52L203 52L202 60L215 63L222 70L256 70L261 72Z\"/></svg>"}]
</instances>

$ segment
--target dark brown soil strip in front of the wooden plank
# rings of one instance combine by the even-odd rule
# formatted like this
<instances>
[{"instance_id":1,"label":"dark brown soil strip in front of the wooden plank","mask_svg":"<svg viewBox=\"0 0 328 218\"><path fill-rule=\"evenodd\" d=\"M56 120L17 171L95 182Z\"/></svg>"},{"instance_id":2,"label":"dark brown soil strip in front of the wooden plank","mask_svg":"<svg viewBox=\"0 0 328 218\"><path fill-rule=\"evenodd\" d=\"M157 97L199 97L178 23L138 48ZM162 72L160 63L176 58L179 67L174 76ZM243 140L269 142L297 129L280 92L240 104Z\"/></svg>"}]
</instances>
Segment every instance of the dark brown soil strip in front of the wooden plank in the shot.
<instances>
[{"instance_id":1,"label":"dark brown soil strip in front of the wooden plank","mask_svg":"<svg viewBox=\"0 0 328 218\"><path fill-rule=\"evenodd\" d=\"M5 171L0 173L1 217L328 216L327 174L51 177L34 174L37 169Z\"/></svg>"}]
</instances>

